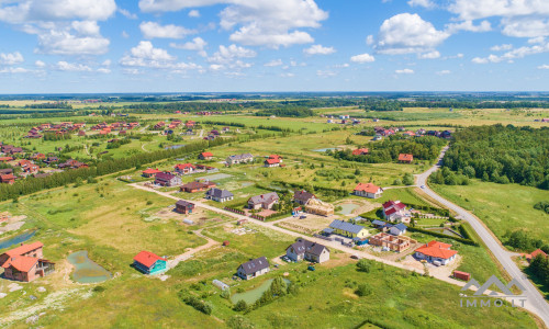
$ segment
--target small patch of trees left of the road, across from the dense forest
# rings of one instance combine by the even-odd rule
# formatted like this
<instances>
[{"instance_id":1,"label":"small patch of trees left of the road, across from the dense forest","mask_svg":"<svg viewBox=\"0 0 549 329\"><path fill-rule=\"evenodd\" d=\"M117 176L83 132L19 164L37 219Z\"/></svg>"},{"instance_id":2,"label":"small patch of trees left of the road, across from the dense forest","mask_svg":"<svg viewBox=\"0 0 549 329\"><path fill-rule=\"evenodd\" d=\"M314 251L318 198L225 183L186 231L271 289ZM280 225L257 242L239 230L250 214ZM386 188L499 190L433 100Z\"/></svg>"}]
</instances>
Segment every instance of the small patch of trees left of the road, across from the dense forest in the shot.
<instances>
[{"instance_id":1,"label":"small patch of trees left of the road, across from the dense forest","mask_svg":"<svg viewBox=\"0 0 549 329\"><path fill-rule=\"evenodd\" d=\"M418 160L435 160L446 140L434 136L423 136L418 138L406 138L401 135L392 135L388 138L370 143L368 155L354 156L351 149L344 150L327 150L327 155L332 155L336 159L356 161L363 163L386 163L399 160L400 154L411 154L414 159Z\"/></svg>"}]
</instances>

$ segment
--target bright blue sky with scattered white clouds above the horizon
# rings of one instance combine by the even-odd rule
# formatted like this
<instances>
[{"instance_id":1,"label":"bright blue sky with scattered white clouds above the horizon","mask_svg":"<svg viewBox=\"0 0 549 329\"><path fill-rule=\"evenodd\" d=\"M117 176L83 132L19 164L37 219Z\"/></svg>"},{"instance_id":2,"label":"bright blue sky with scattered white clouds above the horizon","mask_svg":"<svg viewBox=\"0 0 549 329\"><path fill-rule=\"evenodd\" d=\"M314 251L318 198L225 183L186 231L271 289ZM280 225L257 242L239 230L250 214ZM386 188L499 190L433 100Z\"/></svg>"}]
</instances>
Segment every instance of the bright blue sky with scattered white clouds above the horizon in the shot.
<instances>
[{"instance_id":1,"label":"bright blue sky with scattered white clouds above the horizon","mask_svg":"<svg viewBox=\"0 0 549 329\"><path fill-rule=\"evenodd\" d=\"M3 94L548 86L548 0L0 0Z\"/></svg>"}]
</instances>

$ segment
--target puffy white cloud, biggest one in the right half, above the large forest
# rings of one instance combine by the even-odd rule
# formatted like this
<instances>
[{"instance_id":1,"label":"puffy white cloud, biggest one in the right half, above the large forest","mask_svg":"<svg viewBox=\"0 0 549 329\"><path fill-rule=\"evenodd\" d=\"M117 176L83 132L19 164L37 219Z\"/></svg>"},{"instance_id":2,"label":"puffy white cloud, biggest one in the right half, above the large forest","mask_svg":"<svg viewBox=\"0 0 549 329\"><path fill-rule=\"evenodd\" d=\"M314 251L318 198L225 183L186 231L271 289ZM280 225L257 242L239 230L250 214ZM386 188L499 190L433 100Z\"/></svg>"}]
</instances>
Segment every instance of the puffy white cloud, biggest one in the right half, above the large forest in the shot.
<instances>
[{"instance_id":1,"label":"puffy white cloud, biggest one in the right half, above the large forest","mask_svg":"<svg viewBox=\"0 0 549 329\"><path fill-rule=\"evenodd\" d=\"M432 52L450 34L438 31L417 14L402 13L381 24L374 46L380 54L399 55Z\"/></svg>"}]
</instances>

